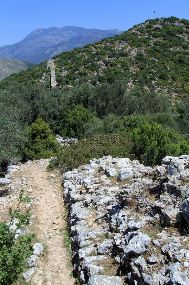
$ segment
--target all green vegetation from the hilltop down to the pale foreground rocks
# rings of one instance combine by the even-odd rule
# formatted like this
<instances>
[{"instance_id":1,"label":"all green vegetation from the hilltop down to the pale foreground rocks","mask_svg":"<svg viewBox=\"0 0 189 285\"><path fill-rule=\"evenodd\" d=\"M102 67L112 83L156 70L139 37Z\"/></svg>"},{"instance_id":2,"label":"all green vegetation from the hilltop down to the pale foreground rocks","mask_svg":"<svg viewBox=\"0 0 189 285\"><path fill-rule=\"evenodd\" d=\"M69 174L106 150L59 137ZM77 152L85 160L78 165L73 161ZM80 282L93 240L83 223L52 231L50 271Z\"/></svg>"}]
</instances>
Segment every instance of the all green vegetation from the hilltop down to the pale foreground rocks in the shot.
<instances>
[{"instance_id":1,"label":"all green vegetation from the hilltop down to the pale foreground rocks","mask_svg":"<svg viewBox=\"0 0 189 285\"><path fill-rule=\"evenodd\" d=\"M108 154L156 165L166 155L189 154L188 37L188 20L147 20L54 56L57 87L52 90L47 62L5 78L0 82L1 165L50 154L57 154L50 167L61 163L65 169ZM116 134L121 139L87 139L63 151L53 143L50 126L64 138Z\"/></svg>"}]
</instances>

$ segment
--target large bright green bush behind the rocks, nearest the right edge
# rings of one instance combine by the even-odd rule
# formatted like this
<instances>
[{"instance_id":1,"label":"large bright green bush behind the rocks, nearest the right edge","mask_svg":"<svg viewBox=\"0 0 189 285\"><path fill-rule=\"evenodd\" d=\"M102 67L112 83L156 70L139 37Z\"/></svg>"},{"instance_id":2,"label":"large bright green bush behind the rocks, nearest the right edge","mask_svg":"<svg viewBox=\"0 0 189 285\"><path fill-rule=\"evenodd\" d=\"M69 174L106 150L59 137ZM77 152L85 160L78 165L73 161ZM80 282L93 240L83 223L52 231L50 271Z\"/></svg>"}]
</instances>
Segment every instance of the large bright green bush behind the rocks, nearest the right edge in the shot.
<instances>
[{"instance_id":1,"label":"large bright green bush behind the rocks, nearest the right edge","mask_svg":"<svg viewBox=\"0 0 189 285\"><path fill-rule=\"evenodd\" d=\"M151 125L145 121L141 122L131 133L131 138L136 156L145 165L160 165L161 159L166 155L179 156L189 153L189 146L186 141L180 142L178 133L166 131L154 122Z\"/></svg>"}]
</instances>

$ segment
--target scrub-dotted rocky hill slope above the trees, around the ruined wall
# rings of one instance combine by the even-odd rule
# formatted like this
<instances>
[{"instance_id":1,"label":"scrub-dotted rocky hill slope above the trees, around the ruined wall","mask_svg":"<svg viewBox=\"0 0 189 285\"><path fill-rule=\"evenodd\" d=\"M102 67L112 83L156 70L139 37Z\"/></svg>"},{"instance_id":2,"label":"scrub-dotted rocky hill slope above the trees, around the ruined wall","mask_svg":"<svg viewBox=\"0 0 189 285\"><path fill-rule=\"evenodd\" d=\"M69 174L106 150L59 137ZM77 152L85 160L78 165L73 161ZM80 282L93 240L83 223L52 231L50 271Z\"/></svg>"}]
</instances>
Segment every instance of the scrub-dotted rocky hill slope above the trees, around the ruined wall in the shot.
<instances>
[{"instance_id":1,"label":"scrub-dotted rocky hill slope above the trees, around the ruined wall","mask_svg":"<svg viewBox=\"0 0 189 285\"><path fill-rule=\"evenodd\" d=\"M54 56L58 86L76 86L91 80L113 83L125 78L129 86L140 85L150 89L165 88L177 97L189 94L189 21L176 17L147 20L121 35L102 39L83 48ZM40 81L46 64L30 68L16 78L1 82L2 88L11 80ZM175 97L175 99L177 99Z\"/></svg>"}]
</instances>

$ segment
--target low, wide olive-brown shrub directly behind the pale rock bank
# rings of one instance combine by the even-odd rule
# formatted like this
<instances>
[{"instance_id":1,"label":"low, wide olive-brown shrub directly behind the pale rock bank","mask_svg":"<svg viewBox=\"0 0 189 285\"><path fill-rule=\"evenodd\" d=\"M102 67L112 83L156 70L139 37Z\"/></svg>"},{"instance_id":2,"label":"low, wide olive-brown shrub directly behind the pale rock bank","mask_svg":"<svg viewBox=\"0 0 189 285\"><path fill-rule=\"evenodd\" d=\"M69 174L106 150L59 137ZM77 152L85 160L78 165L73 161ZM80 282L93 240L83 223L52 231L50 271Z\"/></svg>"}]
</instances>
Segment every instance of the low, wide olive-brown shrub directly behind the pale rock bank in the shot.
<instances>
[{"instance_id":1,"label":"low, wide olive-brown shrub directly behind the pale rock bank","mask_svg":"<svg viewBox=\"0 0 189 285\"><path fill-rule=\"evenodd\" d=\"M87 141L79 141L72 144L71 147L60 147L56 154L57 158L51 160L48 170L52 170L58 164L62 165L65 171L72 170L80 165L87 164L90 159L100 158L102 156L111 155L112 157L129 157L134 159L131 153L132 144L125 139L114 136L95 135L88 138Z\"/></svg>"}]
</instances>

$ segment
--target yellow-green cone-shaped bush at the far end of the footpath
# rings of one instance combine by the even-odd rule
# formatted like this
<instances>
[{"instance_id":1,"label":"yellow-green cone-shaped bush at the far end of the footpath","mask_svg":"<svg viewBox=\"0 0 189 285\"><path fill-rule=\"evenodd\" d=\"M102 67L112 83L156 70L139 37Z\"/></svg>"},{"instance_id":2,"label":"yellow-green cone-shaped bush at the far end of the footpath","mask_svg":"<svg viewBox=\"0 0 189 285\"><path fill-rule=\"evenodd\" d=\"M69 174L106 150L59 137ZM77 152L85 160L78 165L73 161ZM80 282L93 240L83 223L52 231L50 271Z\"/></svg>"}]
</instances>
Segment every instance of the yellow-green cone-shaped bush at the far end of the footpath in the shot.
<instances>
[{"instance_id":1,"label":"yellow-green cone-shaped bush at the far end of the footpath","mask_svg":"<svg viewBox=\"0 0 189 285\"><path fill-rule=\"evenodd\" d=\"M36 160L53 156L58 148L53 131L48 123L38 117L27 129L28 141L21 147L24 160Z\"/></svg>"}]
</instances>

